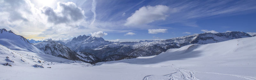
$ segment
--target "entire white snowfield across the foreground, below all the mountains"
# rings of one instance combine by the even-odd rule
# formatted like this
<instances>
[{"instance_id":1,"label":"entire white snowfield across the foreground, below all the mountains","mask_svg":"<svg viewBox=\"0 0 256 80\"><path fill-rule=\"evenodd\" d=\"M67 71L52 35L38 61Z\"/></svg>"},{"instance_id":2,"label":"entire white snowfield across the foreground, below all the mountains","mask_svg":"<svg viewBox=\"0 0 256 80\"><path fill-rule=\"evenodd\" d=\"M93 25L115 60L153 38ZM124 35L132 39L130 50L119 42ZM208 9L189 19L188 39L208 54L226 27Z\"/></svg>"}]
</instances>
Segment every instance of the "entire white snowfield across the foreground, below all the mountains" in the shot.
<instances>
[{"instance_id":1,"label":"entire white snowfield across the foreground, below all the mountains","mask_svg":"<svg viewBox=\"0 0 256 80\"><path fill-rule=\"evenodd\" d=\"M256 37L190 44L157 56L95 65L1 45L1 80L255 80ZM7 58L8 57L8 58ZM11 60L11 61L9 61ZM40 62L39 62L40 61ZM33 65L44 68L35 68ZM47 68L49 67L49 68Z\"/></svg>"}]
</instances>

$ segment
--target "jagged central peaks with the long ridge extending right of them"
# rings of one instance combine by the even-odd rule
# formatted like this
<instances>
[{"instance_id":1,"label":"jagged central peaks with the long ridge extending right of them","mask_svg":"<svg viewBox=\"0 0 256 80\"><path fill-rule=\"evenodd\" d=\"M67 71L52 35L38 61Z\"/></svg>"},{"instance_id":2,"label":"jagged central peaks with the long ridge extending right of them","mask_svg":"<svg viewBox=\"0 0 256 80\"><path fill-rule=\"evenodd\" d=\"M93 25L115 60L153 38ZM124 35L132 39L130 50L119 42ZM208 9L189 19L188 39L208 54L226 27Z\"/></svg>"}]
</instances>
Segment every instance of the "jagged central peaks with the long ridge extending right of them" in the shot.
<instances>
[{"instance_id":1,"label":"jagged central peaks with the long ridge extending right of them","mask_svg":"<svg viewBox=\"0 0 256 80\"><path fill-rule=\"evenodd\" d=\"M227 41L231 39L251 37L244 32L226 33L202 33L190 36L182 36L161 41L140 41L140 42L108 42L102 37L78 36L66 45L75 52L89 52L98 58L109 60L120 60L125 58L136 58L140 56L158 55L171 48L180 48L189 44L209 44Z\"/></svg>"}]
</instances>

